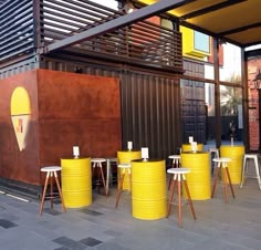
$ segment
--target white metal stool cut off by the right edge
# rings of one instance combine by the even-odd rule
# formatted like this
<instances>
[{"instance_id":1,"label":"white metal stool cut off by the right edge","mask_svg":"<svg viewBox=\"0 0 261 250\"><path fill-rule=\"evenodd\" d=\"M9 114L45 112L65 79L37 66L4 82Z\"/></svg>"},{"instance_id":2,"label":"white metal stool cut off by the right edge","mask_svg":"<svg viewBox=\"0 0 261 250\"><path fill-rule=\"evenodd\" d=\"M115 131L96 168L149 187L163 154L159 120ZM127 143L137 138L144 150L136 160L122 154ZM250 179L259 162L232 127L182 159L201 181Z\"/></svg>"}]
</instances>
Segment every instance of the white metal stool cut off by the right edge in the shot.
<instances>
[{"instance_id":1,"label":"white metal stool cut off by the right edge","mask_svg":"<svg viewBox=\"0 0 261 250\"><path fill-rule=\"evenodd\" d=\"M254 168L255 168L255 176L250 176L247 175L248 174L248 167L249 167L249 160L253 160L254 164ZM246 178L257 178L258 179L258 184L259 184L259 188L261 190L261 179L260 179L260 174L259 174L259 159L258 159L258 155L257 154L246 154L243 156L243 171L242 171L242 180L241 180L241 185L240 188L243 187L243 183L246 180Z\"/></svg>"}]
</instances>

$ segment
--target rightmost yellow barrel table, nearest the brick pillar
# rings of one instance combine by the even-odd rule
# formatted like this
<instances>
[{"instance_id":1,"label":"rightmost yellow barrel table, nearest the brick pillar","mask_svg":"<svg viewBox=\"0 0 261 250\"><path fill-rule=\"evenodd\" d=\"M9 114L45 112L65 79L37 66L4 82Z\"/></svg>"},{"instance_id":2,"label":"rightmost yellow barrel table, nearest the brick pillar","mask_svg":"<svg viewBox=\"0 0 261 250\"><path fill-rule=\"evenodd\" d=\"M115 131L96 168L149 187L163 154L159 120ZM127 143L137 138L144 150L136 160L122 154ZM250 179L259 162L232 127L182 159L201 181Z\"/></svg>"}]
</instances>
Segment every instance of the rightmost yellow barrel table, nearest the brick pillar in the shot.
<instances>
[{"instance_id":1,"label":"rightmost yellow barrel table, nearest the brick pillar","mask_svg":"<svg viewBox=\"0 0 261 250\"><path fill-rule=\"evenodd\" d=\"M229 157L232 159L230 163L228 163L231 183L232 184L240 184L241 177L242 177L244 146L242 146L242 145L220 146L220 155L221 155L221 157Z\"/></svg>"}]
</instances>

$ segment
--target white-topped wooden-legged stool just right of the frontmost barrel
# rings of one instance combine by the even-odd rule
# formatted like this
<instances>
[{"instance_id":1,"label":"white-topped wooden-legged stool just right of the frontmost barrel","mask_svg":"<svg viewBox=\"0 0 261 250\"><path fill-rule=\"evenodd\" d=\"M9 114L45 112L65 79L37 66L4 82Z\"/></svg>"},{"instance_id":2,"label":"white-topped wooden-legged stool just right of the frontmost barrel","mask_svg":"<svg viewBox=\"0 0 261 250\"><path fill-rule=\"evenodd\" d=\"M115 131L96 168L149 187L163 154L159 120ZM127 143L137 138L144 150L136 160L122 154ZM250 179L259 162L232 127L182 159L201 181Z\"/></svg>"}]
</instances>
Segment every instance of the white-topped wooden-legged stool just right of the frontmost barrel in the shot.
<instances>
[{"instance_id":1,"label":"white-topped wooden-legged stool just right of the frontmost barrel","mask_svg":"<svg viewBox=\"0 0 261 250\"><path fill-rule=\"evenodd\" d=\"M188 184L186 180L186 174L190 173L190 169L188 169L188 168L169 168L167 170L167 173L174 176L171 179L170 194L169 194L169 198L168 198L167 218L170 213L171 202L173 202L173 198L174 198L174 189L175 189L176 183L178 181L178 225L179 225L179 227L181 227L181 181L184 181L184 186L185 186L185 189L186 189L186 192L188 196L190 210L194 216L194 219L196 220L196 213L194 210L192 200L191 200Z\"/></svg>"}]
</instances>

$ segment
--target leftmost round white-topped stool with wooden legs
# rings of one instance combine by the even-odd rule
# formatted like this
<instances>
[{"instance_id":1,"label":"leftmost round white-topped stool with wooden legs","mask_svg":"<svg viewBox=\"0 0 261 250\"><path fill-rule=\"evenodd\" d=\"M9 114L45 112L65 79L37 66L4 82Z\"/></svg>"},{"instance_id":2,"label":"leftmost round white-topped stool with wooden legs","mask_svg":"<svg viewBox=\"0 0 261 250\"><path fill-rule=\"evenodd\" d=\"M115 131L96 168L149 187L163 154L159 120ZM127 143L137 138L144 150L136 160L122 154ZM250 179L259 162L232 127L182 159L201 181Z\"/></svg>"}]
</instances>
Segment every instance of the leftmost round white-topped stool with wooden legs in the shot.
<instances>
[{"instance_id":1,"label":"leftmost round white-topped stool with wooden legs","mask_svg":"<svg viewBox=\"0 0 261 250\"><path fill-rule=\"evenodd\" d=\"M41 204L40 204L40 210L39 210L40 216L42 215L45 198L50 198L51 208L53 209L53 199L55 198L54 197L55 194L53 192L53 177L55 179L56 187L58 187L58 190L59 190L59 195L60 195L60 198L61 198L61 201L62 201L63 211L64 212L66 211L65 206L64 206L64 201L63 201L61 186L60 186L60 183L59 183L59 179L58 179L58 171L61 171L61 169L62 168L60 166L49 166L49 167L42 167L41 168L41 171L46 173L46 177L45 177L45 183L44 183L44 188L43 188L43 194L42 194L42 200L41 200ZM49 180L50 180L50 197L46 197L46 189L48 189Z\"/></svg>"}]
</instances>

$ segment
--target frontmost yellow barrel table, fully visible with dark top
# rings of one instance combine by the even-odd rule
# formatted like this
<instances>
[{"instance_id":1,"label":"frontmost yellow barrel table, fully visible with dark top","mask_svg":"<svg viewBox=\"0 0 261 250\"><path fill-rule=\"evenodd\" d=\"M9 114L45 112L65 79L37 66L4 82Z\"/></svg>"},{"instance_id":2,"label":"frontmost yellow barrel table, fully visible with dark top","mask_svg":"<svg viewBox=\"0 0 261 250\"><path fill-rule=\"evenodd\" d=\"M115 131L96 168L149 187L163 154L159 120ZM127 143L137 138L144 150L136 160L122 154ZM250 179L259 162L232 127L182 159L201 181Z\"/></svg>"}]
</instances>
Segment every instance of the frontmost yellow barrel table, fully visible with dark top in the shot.
<instances>
[{"instance_id":1,"label":"frontmost yellow barrel table, fully visible with dark top","mask_svg":"<svg viewBox=\"0 0 261 250\"><path fill-rule=\"evenodd\" d=\"M155 220L166 217L165 160L132 162L132 204L134 218Z\"/></svg>"}]
</instances>

